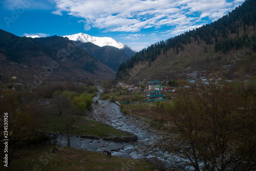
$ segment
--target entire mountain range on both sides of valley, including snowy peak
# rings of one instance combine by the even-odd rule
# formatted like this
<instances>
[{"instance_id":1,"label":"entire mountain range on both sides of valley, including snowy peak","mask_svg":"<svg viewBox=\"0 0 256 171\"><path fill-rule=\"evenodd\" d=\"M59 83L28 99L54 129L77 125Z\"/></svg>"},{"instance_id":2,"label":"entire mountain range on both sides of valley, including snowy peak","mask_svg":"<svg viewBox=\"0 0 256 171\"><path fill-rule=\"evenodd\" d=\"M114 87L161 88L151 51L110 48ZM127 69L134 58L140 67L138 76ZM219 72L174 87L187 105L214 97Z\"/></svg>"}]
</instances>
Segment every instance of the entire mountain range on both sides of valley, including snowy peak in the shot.
<instances>
[{"instance_id":1,"label":"entire mountain range on both sides of valley, including snowy peak","mask_svg":"<svg viewBox=\"0 0 256 171\"><path fill-rule=\"evenodd\" d=\"M139 52L112 38L82 33L31 38L0 30L0 81L110 79L116 71L124 80L164 80L202 70L220 71L228 79L255 76L255 26L256 1L248 0L214 23Z\"/></svg>"}]
</instances>

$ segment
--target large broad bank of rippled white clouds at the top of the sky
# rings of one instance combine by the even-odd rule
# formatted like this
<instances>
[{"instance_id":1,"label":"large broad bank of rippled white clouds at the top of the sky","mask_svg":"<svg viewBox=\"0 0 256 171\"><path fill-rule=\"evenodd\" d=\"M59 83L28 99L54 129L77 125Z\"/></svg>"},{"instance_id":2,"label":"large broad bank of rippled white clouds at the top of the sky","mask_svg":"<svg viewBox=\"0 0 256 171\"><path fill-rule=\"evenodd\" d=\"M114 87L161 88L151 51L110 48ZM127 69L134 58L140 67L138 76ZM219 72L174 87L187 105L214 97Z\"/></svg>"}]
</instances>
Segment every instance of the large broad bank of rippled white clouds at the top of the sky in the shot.
<instances>
[{"instance_id":1,"label":"large broad bank of rippled white clouds at the top of the sky","mask_svg":"<svg viewBox=\"0 0 256 171\"><path fill-rule=\"evenodd\" d=\"M163 26L191 26L204 23L202 18L216 20L233 8L223 0L52 0L54 14L61 11L83 18L84 29L105 32L137 32ZM236 3L241 2L236 0Z\"/></svg>"}]
</instances>

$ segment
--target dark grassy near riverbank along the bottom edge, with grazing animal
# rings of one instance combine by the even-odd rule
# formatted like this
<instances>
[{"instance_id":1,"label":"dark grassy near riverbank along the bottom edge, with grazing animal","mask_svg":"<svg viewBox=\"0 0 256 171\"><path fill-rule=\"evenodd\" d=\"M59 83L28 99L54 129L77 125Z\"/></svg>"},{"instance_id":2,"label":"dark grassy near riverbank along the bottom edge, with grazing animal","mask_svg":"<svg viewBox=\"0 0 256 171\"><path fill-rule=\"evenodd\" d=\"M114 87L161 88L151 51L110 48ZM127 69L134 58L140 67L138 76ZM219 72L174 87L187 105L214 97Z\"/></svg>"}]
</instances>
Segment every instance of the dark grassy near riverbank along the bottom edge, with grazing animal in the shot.
<instances>
[{"instance_id":1,"label":"dark grassy near riverbank along the bottom edge, with grazing animal","mask_svg":"<svg viewBox=\"0 0 256 171\"><path fill-rule=\"evenodd\" d=\"M58 149L52 153L52 148ZM44 145L23 148L16 152L15 158L7 169L1 164L0 170L153 170L150 163L138 159L125 159L116 156L109 158L106 154Z\"/></svg>"}]
</instances>

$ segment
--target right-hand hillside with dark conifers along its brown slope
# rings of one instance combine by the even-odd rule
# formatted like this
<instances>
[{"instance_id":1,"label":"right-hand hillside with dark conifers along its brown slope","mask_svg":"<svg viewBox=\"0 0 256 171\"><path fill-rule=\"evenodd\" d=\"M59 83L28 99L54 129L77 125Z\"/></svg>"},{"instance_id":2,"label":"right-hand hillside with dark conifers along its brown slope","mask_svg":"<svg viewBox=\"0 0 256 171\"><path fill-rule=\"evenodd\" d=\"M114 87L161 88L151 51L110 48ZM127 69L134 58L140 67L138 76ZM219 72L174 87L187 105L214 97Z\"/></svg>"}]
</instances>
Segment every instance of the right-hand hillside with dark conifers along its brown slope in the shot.
<instances>
[{"instance_id":1,"label":"right-hand hillside with dark conifers along its brown slope","mask_svg":"<svg viewBox=\"0 0 256 171\"><path fill-rule=\"evenodd\" d=\"M116 78L165 79L225 65L232 66L226 77L255 75L255 18L256 1L246 1L214 23L142 49L119 66Z\"/></svg>"}]
</instances>

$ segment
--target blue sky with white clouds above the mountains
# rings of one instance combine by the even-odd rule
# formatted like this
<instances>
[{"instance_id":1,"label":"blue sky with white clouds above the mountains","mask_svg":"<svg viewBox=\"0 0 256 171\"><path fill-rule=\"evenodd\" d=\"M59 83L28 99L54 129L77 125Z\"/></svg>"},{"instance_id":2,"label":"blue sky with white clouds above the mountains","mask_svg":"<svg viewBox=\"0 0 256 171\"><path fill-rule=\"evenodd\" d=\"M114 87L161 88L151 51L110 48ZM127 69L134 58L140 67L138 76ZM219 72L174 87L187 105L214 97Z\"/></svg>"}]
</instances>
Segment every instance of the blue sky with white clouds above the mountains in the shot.
<instances>
[{"instance_id":1,"label":"blue sky with white clouds above the mountains","mask_svg":"<svg viewBox=\"0 0 256 171\"><path fill-rule=\"evenodd\" d=\"M243 3L244 0L1 0L0 29L17 36L86 33L112 37L140 51L210 24Z\"/></svg>"}]
</instances>

